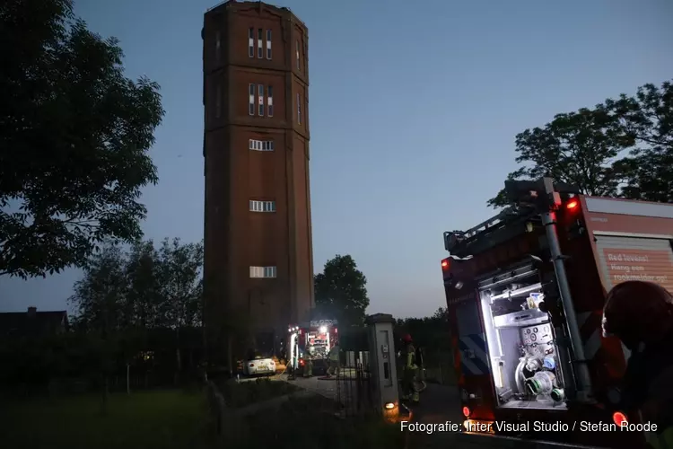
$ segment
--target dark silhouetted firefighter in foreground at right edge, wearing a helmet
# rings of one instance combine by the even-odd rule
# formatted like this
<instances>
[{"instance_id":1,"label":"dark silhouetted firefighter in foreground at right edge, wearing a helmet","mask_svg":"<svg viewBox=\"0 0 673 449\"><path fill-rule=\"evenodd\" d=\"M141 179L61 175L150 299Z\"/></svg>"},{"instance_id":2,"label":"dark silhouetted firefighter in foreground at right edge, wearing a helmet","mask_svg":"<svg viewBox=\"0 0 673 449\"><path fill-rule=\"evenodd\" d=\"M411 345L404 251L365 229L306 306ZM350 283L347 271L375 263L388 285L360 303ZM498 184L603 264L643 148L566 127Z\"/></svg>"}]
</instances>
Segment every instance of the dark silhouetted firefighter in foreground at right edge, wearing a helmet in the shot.
<instances>
[{"instance_id":1,"label":"dark silhouetted firefighter in foreground at right edge, wearing a helmet","mask_svg":"<svg viewBox=\"0 0 673 449\"><path fill-rule=\"evenodd\" d=\"M646 435L651 447L673 448L673 295L651 282L623 282L607 294L602 325L631 351L621 406L657 425Z\"/></svg>"}]
</instances>

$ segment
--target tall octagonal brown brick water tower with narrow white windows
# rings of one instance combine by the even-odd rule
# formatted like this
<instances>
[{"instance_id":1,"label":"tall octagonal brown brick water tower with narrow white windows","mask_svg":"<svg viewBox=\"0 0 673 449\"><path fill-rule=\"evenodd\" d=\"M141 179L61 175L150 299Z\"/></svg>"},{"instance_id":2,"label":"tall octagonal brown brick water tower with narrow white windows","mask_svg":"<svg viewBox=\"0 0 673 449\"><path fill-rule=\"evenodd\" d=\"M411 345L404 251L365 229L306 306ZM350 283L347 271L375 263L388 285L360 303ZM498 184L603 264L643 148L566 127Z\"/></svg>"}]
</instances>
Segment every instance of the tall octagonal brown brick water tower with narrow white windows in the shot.
<instances>
[{"instance_id":1,"label":"tall octagonal brown brick water tower with narrow white windows","mask_svg":"<svg viewBox=\"0 0 673 449\"><path fill-rule=\"evenodd\" d=\"M289 9L205 13L205 336L223 363L279 349L314 304L309 36Z\"/></svg>"}]
</instances>

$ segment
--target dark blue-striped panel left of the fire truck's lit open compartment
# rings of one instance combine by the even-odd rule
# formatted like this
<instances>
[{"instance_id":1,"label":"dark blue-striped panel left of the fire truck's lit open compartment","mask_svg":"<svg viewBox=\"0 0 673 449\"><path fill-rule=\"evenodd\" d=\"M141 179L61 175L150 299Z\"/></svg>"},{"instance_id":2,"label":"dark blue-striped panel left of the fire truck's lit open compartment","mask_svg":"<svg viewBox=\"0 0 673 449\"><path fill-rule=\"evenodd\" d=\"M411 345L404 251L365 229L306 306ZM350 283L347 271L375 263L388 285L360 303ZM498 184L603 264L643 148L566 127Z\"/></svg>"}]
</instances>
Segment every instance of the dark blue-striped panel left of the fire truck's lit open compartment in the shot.
<instances>
[{"instance_id":1,"label":"dark blue-striped panel left of the fire truck's lit open compartment","mask_svg":"<svg viewBox=\"0 0 673 449\"><path fill-rule=\"evenodd\" d=\"M486 341L476 302L473 300L459 304L456 307L456 318L462 373L464 375L489 374Z\"/></svg>"}]
</instances>

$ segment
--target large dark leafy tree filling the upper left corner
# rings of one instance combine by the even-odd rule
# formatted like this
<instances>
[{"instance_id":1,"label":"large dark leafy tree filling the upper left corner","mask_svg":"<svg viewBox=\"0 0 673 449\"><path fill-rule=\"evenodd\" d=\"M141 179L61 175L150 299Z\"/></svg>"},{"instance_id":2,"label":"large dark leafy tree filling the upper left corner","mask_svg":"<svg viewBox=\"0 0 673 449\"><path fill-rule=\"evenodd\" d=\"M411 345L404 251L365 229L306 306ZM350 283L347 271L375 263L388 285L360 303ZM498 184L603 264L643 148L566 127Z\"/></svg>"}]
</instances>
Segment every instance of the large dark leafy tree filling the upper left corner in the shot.
<instances>
[{"instance_id":1,"label":"large dark leafy tree filling the upper left corner","mask_svg":"<svg viewBox=\"0 0 673 449\"><path fill-rule=\"evenodd\" d=\"M159 85L125 77L118 40L71 0L5 0L0 40L0 275L81 267L101 242L140 237Z\"/></svg>"}]
</instances>

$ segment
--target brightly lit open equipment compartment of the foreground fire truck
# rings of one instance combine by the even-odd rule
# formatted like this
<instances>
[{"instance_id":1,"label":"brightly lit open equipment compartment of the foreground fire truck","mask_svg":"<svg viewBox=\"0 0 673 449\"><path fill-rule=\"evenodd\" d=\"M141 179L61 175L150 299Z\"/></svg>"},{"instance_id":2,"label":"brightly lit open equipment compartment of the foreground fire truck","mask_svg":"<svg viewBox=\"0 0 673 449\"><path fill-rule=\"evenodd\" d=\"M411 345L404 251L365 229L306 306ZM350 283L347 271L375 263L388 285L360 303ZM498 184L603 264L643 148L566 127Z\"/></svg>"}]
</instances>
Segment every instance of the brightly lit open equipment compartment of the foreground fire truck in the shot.
<instances>
[{"instance_id":1,"label":"brightly lit open equipment compartment of the foreground fire truck","mask_svg":"<svg viewBox=\"0 0 673 449\"><path fill-rule=\"evenodd\" d=\"M498 406L564 409L565 375L549 314L539 308L545 296L538 270L504 269L478 290Z\"/></svg>"}]
</instances>

